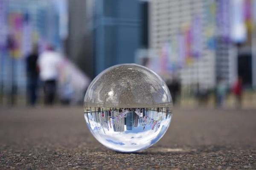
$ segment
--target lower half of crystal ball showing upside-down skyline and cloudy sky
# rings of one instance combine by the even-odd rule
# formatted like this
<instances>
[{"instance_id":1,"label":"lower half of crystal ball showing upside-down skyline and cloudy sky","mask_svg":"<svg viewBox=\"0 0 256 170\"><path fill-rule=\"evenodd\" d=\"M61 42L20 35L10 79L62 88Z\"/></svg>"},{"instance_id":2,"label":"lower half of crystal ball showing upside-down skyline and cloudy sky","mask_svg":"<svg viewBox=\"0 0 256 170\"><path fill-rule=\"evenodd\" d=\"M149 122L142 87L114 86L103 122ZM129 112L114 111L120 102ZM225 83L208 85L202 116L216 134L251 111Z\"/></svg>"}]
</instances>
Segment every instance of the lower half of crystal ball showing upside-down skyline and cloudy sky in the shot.
<instances>
[{"instance_id":1,"label":"lower half of crystal ball showing upside-down skyline and cloudy sky","mask_svg":"<svg viewBox=\"0 0 256 170\"><path fill-rule=\"evenodd\" d=\"M170 108L85 108L96 139L113 150L134 152L156 143L172 119Z\"/></svg>"}]
</instances>

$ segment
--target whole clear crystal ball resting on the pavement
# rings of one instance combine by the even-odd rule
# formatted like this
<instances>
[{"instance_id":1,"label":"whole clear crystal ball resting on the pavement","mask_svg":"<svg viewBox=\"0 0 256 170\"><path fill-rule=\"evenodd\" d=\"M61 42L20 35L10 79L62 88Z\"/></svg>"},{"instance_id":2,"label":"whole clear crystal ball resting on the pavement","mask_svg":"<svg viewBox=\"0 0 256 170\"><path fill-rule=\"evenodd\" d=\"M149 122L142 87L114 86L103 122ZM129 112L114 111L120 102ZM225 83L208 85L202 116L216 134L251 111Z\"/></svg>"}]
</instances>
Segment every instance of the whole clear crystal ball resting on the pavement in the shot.
<instances>
[{"instance_id":1,"label":"whole clear crystal ball resting on the pavement","mask_svg":"<svg viewBox=\"0 0 256 170\"><path fill-rule=\"evenodd\" d=\"M172 120L172 97L156 73L137 64L112 66L90 83L84 118L93 136L119 152L159 141Z\"/></svg>"}]
</instances>

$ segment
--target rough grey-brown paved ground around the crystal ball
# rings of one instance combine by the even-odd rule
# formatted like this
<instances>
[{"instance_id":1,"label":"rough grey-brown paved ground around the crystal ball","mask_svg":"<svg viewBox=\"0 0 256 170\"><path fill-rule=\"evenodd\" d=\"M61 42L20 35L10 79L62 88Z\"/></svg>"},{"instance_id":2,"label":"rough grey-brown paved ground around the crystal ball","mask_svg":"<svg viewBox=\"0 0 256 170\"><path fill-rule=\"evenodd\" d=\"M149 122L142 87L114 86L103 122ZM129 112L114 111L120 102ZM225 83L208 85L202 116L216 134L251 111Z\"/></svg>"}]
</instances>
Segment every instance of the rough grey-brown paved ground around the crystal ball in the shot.
<instances>
[{"instance_id":1,"label":"rough grey-brown paved ground around the crystal ball","mask_svg":"<svg viewBox=\"0 0 256 170\"><path fill-rule=\"evenodd\" d=\"M82 108L0 108L0 169L256 169L256 110L177 110L166 135L117 153Z\"/></svg>"}]
</instances>

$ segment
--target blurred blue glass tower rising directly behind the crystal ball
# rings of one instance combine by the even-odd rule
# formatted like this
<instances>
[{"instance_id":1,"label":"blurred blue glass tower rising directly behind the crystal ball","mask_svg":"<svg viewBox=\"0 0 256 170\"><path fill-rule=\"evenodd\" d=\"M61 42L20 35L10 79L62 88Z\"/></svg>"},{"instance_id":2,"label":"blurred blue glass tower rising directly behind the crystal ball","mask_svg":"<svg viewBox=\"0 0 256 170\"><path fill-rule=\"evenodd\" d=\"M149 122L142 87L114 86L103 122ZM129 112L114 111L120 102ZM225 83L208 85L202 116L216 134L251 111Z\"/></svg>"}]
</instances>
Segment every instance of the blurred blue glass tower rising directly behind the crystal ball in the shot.
<instances>
[{"instance_id":1,"label":"blurred blue glass tower rising directly behind the crystal ball","mask_svg":"<svg viewBox=\"0 0 256 170\"><path fill-rule=\"evenodd\" d=\"M87 0L88 34L94 57L95 75L121 63L134 63L135 52L147 45L147 16L140 0ZM141 37L144 37L144 40Z\"/></svg>"}]
</instances>

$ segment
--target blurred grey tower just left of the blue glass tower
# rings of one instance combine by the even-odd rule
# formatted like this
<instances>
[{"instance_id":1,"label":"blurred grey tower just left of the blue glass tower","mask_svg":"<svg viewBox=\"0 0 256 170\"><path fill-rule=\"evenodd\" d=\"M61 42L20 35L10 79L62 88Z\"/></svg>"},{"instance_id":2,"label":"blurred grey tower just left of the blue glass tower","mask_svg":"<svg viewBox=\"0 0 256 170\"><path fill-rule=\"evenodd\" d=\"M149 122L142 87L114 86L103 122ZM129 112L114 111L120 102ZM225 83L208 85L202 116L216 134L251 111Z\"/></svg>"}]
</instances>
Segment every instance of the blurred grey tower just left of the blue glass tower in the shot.
<instances>
[{"instance_id":1,"label":"blurred grey tower just left of the blue glass tower","mask_svg":"<svg viewBox=\"0 0 256 170\"><path fill-rule=\"evenodd\" d=\"M69 25L65 47L68 57L91 79L94 78L92 36L88 31L90 0L68 0ZM88 16L89 15L89 16Z\"/></svg>"}]
</instances>

